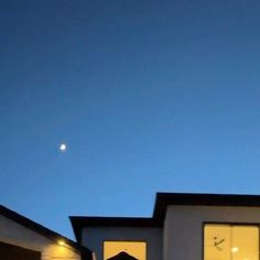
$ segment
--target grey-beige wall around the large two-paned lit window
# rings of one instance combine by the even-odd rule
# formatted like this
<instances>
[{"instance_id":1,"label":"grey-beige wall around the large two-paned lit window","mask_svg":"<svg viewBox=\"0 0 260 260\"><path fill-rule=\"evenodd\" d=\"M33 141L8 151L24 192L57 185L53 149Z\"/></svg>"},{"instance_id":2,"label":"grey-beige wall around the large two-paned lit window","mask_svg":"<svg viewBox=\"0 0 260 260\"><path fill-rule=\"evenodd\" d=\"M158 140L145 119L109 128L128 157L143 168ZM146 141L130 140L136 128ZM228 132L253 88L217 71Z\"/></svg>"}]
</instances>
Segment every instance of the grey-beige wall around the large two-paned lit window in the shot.
<instances>
[{"instance_id":1,"label":"grey-beige wall around the large two-paned lit window","mask_svg":"<svg viewBox=\"0 0 260 260\"><path fill-rule=\"evenodd\" d=\"M169 206L164 223L164 260L203 260L204 223L260 224L260 208Z\"/></svg>"}]
</instances>

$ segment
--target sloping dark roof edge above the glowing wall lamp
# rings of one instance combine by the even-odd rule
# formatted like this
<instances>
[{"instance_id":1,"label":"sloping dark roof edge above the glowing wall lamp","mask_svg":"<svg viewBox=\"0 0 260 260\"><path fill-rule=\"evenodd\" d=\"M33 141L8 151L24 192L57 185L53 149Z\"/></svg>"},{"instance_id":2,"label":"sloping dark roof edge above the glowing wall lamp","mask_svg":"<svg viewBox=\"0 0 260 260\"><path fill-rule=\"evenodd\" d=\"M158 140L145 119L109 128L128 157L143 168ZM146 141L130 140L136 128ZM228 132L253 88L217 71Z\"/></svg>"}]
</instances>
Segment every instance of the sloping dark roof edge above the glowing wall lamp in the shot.
<instances>
[{"instance_id":1,"label":"sloping dark roof edge above the glowing wall lamp","mask_svg":"<svg viewBox=\"0 0 260 260\"><path fill-rule=\"evenodd\" d=\"M0 205L0 215L13 220L17 224L20 224L24 226L28 229L31 229L55 242L58 242L58 240L63 240L66 245L69 247L80 251L87 259L91 259L91 251L87 249L86 247L80 246L78 242L75 242L64 236L62 236L58 232L55 232L2 205Z\"/></svg>"}]
</instances>

